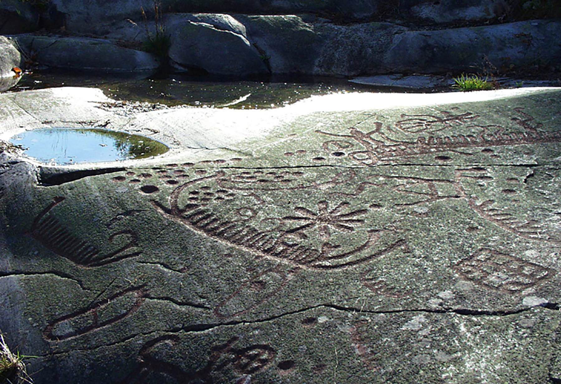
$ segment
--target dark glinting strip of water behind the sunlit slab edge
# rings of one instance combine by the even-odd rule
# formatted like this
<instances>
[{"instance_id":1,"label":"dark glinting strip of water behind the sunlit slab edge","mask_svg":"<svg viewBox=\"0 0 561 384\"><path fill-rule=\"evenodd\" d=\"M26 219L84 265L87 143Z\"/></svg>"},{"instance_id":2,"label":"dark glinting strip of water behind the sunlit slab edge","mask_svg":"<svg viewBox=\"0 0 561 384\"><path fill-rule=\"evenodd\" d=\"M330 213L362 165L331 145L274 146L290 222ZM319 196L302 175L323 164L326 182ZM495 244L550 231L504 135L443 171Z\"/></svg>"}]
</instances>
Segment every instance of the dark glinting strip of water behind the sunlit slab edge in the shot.
<instances>
[{"instance_id":1,"label":"dark glinting strip of water behind the sunlit slab edge","mask_svg":"<svg viewBox=\"0 0 561 384\"><path fill-rule=\"evenodd\" d=\"M390 92L396 89L352 84L343 78L272 77L237 80L217 76L171 75L167 78L134 79L76 72L38 72L24 76L12 91L60 86L97 87L109 98L144 101L168 106L277 108L312 95L334 92Z\"/></svg>"}]
</instances>

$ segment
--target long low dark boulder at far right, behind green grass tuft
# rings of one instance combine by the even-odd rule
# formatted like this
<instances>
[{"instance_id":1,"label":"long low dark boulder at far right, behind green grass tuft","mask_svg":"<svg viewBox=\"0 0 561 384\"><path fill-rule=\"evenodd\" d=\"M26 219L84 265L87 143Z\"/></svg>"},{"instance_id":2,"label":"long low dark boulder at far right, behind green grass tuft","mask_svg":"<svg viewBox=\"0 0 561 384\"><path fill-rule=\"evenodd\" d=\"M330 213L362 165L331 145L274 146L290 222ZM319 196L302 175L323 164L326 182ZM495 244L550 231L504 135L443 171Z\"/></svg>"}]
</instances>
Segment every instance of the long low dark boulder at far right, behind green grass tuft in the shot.
<instances>
[{"instance_id":1,"label":"long low dark boulder at far right, behind green grass tuft","mask_svg":"<svg viewBox=\"0 0 561 384\"><path fill-rule=\"evenodd\" d=\"M393 72L481 71L483 66L561 69L561 35L553 20L520 21L479 27L407 31L394 36L381 68Z\"/></svg>"}]
</instances>

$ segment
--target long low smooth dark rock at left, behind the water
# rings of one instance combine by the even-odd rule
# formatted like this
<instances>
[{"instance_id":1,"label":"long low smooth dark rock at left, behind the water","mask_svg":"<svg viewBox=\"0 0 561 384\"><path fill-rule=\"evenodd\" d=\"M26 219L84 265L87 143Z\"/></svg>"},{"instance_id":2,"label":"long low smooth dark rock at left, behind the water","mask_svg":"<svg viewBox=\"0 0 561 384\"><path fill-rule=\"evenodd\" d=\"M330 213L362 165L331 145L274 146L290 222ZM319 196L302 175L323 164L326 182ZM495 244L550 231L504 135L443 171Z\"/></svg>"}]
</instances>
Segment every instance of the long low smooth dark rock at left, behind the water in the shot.
<instances>
[{"instance_id":1,"label":"long low smooth dark rock at left, behind the water","mask_svg":"<svg viewBox=\"0 0 561 384\"><path fill-rule=\"evenodd\" d=\"M103 39L36 35L16 35L13 39L46 67L149 75L160 65L150 53L122 48Z\"/></svg>"}]
</instances>

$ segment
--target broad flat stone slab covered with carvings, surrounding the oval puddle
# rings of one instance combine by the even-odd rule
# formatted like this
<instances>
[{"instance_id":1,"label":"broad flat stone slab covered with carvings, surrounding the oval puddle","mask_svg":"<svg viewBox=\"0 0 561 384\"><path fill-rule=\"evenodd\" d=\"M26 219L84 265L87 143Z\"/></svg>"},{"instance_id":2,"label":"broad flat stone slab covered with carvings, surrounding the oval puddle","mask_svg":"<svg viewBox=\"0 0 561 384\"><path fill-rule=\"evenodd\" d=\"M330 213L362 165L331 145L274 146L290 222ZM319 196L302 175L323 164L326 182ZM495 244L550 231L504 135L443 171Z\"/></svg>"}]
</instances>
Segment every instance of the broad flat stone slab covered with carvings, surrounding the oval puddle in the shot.
<instances>
[{"instance_id":1,"label":"broad flat stone slab covered with carvings, surrounding the oval puddle","mask_svg":"<svg viewBox=\"0 0 561 384\"><path fill-rule=\"evenodd\" d=\"M560 98L123 116L98 90L0 95L3 138L104 124L172 148L3 155L0 329L36 383L561 380Z\"/></svg>"}]
</instances>

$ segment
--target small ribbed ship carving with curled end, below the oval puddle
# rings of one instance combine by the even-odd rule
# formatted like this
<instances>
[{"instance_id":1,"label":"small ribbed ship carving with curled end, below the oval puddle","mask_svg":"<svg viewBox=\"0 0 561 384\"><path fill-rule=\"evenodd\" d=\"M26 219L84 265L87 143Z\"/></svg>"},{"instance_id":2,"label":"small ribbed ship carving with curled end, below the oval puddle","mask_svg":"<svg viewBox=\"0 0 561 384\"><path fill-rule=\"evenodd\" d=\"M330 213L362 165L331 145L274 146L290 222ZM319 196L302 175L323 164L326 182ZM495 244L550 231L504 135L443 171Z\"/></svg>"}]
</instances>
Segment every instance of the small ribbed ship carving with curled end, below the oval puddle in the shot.
<instances>
[{"instance_id":1,"label":"small ribbed ship carving with curled end, below the oval puddle","mask_svg":"<svg viewBox=\"0 0 561 384\"><path fill-rule=\"evenodd\" d=\"M50 211L65 201L65 197L54 197L43 211L35 217L31 224L31 236L57 255L84 267L98 267L123 258L140 255L137 235L132 230L121 230L108 237L109 244L124 244L113 252L100 253L99 249L80 240L72 234Z\"/></svg>"}]
</instances>

